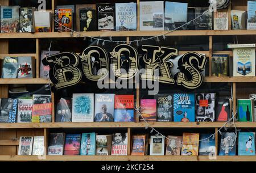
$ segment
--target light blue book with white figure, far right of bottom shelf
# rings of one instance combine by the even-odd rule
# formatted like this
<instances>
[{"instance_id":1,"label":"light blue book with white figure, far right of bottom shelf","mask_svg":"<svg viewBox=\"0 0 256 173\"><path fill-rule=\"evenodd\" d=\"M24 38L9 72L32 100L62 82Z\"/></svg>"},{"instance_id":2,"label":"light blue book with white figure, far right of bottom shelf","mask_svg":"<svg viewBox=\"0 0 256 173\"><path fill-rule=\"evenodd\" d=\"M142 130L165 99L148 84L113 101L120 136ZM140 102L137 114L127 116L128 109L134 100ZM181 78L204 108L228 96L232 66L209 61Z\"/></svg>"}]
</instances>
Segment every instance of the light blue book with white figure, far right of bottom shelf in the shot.
<instances>
[{"instance_id":1,"label":"light blue book with white figure, far right of bottom shelf","mask_svg":"<svg viewBox=\"0 0 256 173\"><path fill-rule=\"evenodd\" d=\"M255 133L238 133L238 155L255 155Z\"/></svg>"}]
</instances>

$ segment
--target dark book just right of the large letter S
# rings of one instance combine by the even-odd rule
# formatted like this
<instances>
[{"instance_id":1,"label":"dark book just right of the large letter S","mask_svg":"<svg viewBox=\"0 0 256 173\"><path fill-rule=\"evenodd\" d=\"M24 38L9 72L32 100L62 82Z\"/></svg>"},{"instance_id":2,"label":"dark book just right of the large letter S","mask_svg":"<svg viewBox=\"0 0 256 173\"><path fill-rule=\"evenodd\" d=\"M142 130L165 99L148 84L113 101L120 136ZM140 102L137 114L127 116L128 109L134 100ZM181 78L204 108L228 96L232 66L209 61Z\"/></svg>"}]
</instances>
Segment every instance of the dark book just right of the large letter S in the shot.
<instances>
[{"instance_id":1,"label":"dark book just right of the large letter S","mask_svg":"<svg viewBox=\"0 0 256 173\"><path fill-rule=\"evenodd\" d=\"M212 76L228 76L228 54L212 54Z\"/></svg>"}]
</instances>

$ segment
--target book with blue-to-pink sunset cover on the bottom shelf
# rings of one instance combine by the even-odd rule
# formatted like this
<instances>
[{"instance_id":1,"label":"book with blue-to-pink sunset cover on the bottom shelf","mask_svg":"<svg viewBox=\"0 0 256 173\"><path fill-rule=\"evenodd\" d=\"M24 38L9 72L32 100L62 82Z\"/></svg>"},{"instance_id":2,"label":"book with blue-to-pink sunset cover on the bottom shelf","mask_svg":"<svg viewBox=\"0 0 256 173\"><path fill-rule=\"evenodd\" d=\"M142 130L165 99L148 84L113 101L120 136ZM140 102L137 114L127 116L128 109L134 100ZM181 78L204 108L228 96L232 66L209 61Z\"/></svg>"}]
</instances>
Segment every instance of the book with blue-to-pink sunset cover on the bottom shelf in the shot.
<instances>
[{"instance_id":1,"label":"book with blue-to-pink sunset cover on the bottom shelf","mask_svg":"<svg viewBox=\"0 0 256 173\"><path fill-rule=\"evenodd\" d=\"M65 138L64 155L79 155L81 134L67 134Z\"/></svg>"}]
</instances>

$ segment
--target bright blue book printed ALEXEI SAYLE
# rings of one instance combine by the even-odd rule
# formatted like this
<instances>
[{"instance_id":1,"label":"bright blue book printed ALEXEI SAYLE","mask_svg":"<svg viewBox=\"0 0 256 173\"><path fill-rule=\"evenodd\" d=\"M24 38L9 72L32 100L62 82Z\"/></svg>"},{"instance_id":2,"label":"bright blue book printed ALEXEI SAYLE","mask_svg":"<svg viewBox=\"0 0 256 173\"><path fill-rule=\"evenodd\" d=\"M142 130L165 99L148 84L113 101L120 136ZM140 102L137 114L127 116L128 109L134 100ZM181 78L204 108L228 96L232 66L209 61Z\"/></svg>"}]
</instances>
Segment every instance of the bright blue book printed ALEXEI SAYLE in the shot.
<instances>
[{"instance_id":1,"label":"bright blue book printed ALEXEI SAYLE","mask_svg":"<svg viewBox=\"0 0 256 173\"><path fill-rule=\"evenodd\" d=\"M174 121L195 122L194 94L174 94Z\"/></svg>"}]
</instances>

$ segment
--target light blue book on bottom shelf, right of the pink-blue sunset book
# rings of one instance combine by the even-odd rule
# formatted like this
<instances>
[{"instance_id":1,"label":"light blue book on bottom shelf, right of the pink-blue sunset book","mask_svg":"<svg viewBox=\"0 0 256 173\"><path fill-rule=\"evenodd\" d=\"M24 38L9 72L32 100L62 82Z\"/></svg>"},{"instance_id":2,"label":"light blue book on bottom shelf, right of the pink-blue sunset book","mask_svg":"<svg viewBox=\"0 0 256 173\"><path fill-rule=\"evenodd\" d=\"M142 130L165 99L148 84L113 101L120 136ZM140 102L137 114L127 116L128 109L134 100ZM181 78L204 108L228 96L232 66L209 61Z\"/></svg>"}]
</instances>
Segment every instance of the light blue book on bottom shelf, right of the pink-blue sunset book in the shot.
<instances>
[{"instance_id":1,"label":"light blue book on bottom shelf, right of the pink-blue sunset book","mask_svg":"<svg viewBox=\"0 0 256 173\"><path fill-rule=\"evenodd\" d=\"M96 134L82 133L80 155L95 155L96 153Z\"/></svg>"}]
</instances>

